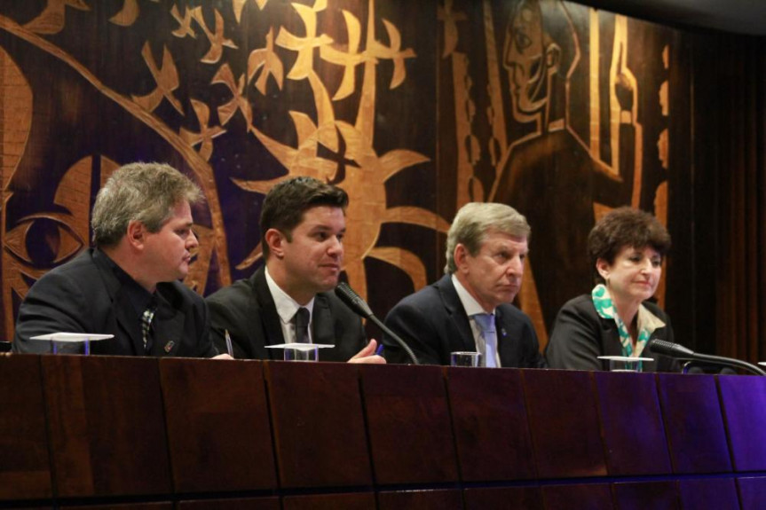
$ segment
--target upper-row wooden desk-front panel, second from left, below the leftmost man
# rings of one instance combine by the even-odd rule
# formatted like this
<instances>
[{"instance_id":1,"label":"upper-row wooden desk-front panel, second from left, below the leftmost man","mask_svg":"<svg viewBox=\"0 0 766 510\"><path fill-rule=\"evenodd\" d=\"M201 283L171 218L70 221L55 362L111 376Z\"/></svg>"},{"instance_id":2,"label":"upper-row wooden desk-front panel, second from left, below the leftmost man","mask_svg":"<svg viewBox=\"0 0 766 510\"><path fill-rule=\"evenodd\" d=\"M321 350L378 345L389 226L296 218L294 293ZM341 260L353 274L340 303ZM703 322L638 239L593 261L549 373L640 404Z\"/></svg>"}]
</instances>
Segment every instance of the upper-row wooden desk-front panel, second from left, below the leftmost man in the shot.
<instances>
[{"instance_id":1,"label":"upper-row wooden desk-front panel, second from left, below the leftmost man","mask_svg":"<svg viewBox=\"0 0 766 510\"><path fill-rule=\"evenodd\" d=\"M58 496L170 493L158 360L41 359Z\"/></svg>"}]
</instances>

